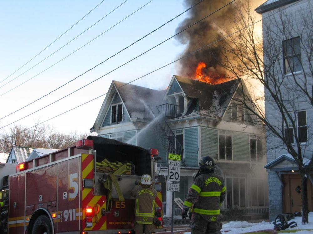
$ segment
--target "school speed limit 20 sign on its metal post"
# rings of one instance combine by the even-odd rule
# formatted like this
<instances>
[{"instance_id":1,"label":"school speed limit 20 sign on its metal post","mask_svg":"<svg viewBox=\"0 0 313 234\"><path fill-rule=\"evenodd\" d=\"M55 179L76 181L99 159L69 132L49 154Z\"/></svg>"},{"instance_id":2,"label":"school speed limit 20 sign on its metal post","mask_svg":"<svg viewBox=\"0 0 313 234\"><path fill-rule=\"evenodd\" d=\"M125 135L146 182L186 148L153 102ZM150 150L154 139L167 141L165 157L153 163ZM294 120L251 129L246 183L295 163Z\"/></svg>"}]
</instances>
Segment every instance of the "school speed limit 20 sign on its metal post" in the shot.
<instances>
[{"instance_id":1,"label":"school speed limit 20 sign on its metal post","mask_svg":"<svg viewBox=\"0 0 313 234\"><path fill-rule=\"evenodd\" d=\"M174 224L174 194L175 192L179 192L179 189L180 189L179 188L180 159L181 159L181 156L179 154L168 154L167 191L172 192L172 223L171 223L172 234L173 234L173 224Z\"/></svg>"}]
</instances>

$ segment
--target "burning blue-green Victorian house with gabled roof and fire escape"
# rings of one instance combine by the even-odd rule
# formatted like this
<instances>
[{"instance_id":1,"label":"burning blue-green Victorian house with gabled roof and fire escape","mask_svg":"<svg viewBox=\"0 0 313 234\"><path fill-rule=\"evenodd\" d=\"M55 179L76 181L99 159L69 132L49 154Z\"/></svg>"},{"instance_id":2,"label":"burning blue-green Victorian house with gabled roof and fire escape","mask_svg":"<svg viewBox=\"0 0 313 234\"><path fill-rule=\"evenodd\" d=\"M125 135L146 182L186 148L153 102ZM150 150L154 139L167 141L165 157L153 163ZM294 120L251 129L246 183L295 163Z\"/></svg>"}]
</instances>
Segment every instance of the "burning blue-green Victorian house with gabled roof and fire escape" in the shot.
<instances>
[{"instance_id":1,"label":"burning blue-green Victorian house with gabled roof and fire escape","mask_svg":"<svg viewBox=\"0 0 313 234\"><path fill-rule=\"evenodd\" d=\"M173 76L167 90L158 91L113 81L90 130L98 136L159 150L167 216L172 201L172 192L166 191L168 153L183 157L180 192L175 197L185 199L201 157L209 155L226 183L222 209L239 207L250 217L265 215L264 129L249 124L253 117L234 105L232 97L238 86L238 80L212 85Z\"/></svg>"}]
</instances>

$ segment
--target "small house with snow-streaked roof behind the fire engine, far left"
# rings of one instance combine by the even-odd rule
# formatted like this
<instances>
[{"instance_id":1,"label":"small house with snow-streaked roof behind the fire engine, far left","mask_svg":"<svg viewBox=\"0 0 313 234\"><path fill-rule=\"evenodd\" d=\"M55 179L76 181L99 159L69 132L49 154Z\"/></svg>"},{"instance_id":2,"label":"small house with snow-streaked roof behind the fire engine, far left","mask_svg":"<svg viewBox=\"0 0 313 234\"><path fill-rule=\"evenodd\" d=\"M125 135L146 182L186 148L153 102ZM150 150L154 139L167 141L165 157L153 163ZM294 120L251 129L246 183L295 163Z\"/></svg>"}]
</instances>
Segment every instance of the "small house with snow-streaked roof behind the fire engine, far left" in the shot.
<instances>
[{"instance_id":1,"label":"small house with snow-streaked roof behind the fire engine, far left","mask_svg":"<svg viewBox=\"0 0 313 234\"><path fill-rule=\"evenodd\" d=\"M22 163L27 160L38 158L40 156L51 154L58 149L42 149L42 148L31 148L24 146L12 146L7 163Z\"/></svg>"}]
</instances>

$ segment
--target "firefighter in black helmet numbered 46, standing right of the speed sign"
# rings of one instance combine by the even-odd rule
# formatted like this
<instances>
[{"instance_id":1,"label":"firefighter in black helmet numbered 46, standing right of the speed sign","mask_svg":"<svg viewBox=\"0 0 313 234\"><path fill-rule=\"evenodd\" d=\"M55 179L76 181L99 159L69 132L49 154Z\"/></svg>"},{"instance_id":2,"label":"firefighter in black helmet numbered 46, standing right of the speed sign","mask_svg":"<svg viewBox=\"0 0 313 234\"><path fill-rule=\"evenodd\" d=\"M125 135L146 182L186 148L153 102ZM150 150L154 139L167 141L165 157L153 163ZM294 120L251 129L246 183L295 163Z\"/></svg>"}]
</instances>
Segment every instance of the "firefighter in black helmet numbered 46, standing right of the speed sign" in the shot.
<instances>
[{"instance_id":1,"label":"firefighter in black helmet numbered 46, standing right of the speed sign","mask_svg":"<svg viewBox=\"0 0 313 234\"><path fill-rule=\"evenodd\" d=\"M226 194L224 179L214 173L213 158L203 157L199 165L184 202L182 218L187 217L187 212L192 207L189 226L192 234L221 234L220 207Z\"/></svg>"}]
</instances>

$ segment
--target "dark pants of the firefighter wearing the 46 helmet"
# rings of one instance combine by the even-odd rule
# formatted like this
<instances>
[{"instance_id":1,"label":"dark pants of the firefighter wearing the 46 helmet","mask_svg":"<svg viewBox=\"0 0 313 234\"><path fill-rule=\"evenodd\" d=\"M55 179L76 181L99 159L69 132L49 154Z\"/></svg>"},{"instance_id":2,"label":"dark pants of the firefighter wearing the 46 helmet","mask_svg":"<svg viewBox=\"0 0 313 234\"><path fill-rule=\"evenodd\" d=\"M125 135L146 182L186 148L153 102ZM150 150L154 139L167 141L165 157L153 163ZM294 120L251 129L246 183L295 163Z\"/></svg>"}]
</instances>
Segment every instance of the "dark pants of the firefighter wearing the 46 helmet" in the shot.
<instances>
[{"instance_id":1,"label":"dark pants of the firefighter wearing the 46 helmet","mask_svg":"<svg viewBox=\"0 0 313 234\"><path fill-rule=\"evenodd\" d=\"M192 214L190 226L191 234L221 234L222 223L208 222L199 214Z\"/></svg>"}]
</instances>

